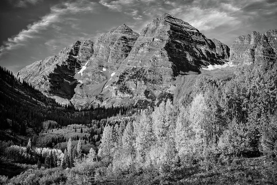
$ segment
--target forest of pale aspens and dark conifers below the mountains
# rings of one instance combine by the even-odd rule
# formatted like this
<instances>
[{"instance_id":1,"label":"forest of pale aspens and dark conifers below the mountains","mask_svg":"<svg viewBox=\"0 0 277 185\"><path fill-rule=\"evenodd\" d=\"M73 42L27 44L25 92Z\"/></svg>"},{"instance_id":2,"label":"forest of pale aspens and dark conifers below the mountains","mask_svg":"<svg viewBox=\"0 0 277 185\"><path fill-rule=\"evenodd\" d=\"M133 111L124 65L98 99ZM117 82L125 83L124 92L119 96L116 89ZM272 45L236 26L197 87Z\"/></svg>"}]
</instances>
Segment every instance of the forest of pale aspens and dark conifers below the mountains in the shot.
<instances>
[{"instance_id":1,"label":"forest of pale aspens and dark conifers below the mountains","mask_svg":"<svg viewBox=\"0 0 277 185\"><path fill-rule=\"evenodd\" d=\"M29 137L25 125L34 135L0 143L2 164L24 169L0 184L276 183L276 63L242 66L224 80L203 76L175 103L165 97L156 106L85 110L28 100L15 112L16 101L1 98L1 130Z\"/></svg>"}]
</instances>

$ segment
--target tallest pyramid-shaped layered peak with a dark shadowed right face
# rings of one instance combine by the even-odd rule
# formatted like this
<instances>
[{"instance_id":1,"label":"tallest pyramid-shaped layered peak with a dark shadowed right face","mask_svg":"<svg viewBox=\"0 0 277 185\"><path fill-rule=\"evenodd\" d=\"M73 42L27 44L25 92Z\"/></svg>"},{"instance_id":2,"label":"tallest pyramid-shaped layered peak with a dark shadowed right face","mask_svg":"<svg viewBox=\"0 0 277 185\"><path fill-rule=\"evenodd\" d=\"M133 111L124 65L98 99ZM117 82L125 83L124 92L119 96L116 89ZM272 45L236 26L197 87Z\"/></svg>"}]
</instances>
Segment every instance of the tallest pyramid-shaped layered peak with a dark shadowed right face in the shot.
<instances>
[{"instance_id":1,"label":"tallest pyramid-shaped layered peak with a dark shadowed right face","mask_svg":"<svg viewBox=\"0 0 277 185\"><path fill-rule=\"evenodd\" d=\"M176 76L198 74L203 66L222 65L228 55L225 44L213 42L183 20L163 14L141 31L109 89L118 97L157 95L171 86Z\"/></svg>"}]
</instances>

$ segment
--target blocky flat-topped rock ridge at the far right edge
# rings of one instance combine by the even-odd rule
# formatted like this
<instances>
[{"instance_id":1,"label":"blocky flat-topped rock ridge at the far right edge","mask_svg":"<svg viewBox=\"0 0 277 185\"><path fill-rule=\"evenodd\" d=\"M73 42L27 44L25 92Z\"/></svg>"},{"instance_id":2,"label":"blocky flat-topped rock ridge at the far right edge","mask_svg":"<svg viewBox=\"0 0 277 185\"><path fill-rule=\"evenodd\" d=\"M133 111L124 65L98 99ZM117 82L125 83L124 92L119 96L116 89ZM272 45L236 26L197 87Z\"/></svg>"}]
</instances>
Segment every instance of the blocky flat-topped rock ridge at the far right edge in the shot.
<instances>
[{"instance_id":1,"label":"blocky flat-topped rock ridge at the far right edge","mask_svg":"<svg viewBox=\"0 0 277 185\"><path fill-rule=\"evenodd\" d=\"M251 64L259 60L276 60L277 30L265 34L253 31L238 36L231 44L230 61L239 64Z\"/></svg>"}]
</instances>

